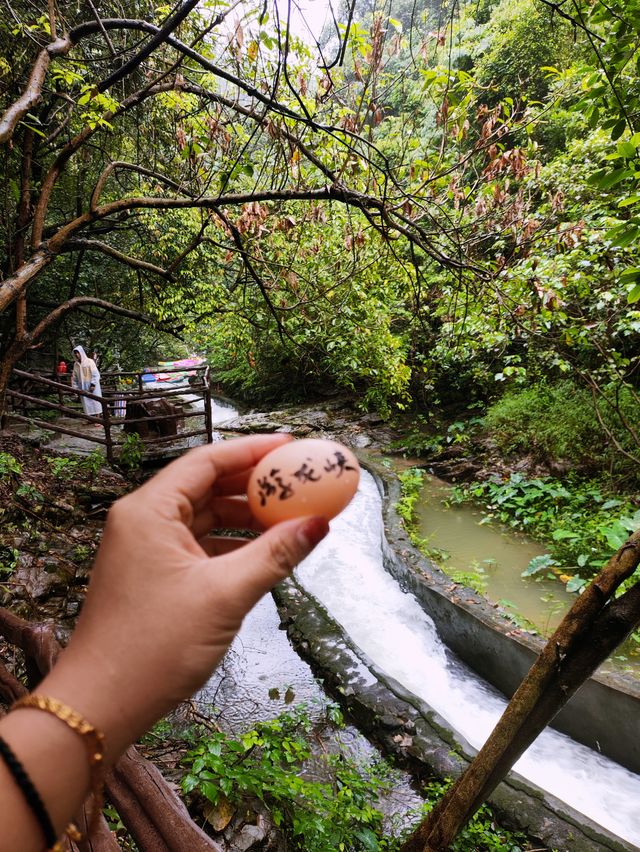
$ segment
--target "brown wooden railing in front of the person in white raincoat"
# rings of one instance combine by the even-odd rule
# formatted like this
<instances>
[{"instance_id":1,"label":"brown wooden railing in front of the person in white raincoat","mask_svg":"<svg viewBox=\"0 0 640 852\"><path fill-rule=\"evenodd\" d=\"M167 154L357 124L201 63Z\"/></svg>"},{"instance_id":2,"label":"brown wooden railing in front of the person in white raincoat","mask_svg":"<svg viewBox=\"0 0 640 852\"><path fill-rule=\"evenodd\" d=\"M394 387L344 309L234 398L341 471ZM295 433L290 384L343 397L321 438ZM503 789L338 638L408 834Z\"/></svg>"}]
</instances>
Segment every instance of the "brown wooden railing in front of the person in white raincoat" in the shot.
<instances>
[{"instance_id":1,"label":"brown wooden railing in front of the person in white raincoat","mask_svg":"<svg viewBox=\"0 0 640 852\"><path fill-rule=\"evenodd\" d=\"M154 383L151 388L142 378L145 375L142 372L103 373L100 377L102 396L97 396L88 391L71 387L70 374L64 378L53 379L39 373L13 370L12 381L7 389L10 403L8 413L11 420L100 444L105 447L110 462L116 460L119 427L124 427L127 432L137 431L141 434L147 432L146 427L149 426L162 431L166 424L167 430L171 431L172 434L159 435L158 437L142 434L145 449L154 445L184 441L200 435L206 436L207 443L211 443L213 440L213 424L209 367L201 364L186 369L182 367L163 368L162 372L185 373L188 376L188 383L180 387L175 385L165 387ZM189 396L188 401L180 399L185 395ZM102 411L101 415L85 414L82 408L83 398L98 402ZM196 399L202 399L203 410L185 411L184 409L192 405ZM178 410L157 414L145 413L144 409L149 408L150 403L158 403L161 400L170 402L172 407ZM136 416L137 407L140 408L142 414L140 415L139 412ZM47 418L46 413L40 412L51 412L51 419ZM70 426L66 423L57 422L61 417L77 420L78 424L76 426L74 423ZM186 420L193 418L199 418L203 421L201 428L180 431L181 425ZM104 436L89 430L80 431L80 425L84 423L103 426ZM172 424L175 424L175 426ZM115 432L114 427L118 427Z\"/></svg>"}]
</instances>

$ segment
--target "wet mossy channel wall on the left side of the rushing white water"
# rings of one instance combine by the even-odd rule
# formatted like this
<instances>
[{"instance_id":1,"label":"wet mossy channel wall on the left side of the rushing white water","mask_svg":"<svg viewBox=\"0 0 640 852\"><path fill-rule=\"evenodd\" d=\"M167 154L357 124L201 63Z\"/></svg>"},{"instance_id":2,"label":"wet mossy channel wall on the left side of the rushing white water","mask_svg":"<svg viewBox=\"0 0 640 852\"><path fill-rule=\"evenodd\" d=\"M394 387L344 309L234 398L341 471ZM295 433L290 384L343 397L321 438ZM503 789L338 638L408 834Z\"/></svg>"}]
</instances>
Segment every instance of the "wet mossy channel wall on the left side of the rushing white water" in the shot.
<instances>
[{"instance_id":1,"label":"wet mossy channel wall on the left side of the rushing white water","mask_svg":"<svg viewBox=\"0 0 640 852\"><path fill-rule=\"evenodd\" d=\"M475 750L448 723L394 678L352 647L340 626L295 580L274 591L282 626L324 688L416 778L457 778ZM489 799L503 821L548 849L562 852L637 852L637 847L596 825L511 772Z\"/></svg>"}]
</instances>

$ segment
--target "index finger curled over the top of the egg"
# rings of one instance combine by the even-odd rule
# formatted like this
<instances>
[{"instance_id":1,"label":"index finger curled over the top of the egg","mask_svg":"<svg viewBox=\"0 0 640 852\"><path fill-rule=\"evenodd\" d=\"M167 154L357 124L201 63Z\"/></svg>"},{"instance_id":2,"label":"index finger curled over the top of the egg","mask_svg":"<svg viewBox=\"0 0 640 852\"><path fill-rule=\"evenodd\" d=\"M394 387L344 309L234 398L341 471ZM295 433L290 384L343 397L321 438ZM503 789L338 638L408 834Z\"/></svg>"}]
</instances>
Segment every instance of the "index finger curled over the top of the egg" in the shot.
<instances>
[{"instance_id":1,"label":"index finger curled over the top of the egg","mask_svg":"<svg viewBox=\"0 0 640 852\"><path fill-rule=\"evenodd\" d=\"M174 494L196 503L216 480L252 468L268 452L290 440L291 435L275 433L207 444L171 462L143 488L150 496Z\"/></svg>"}]
</instances>

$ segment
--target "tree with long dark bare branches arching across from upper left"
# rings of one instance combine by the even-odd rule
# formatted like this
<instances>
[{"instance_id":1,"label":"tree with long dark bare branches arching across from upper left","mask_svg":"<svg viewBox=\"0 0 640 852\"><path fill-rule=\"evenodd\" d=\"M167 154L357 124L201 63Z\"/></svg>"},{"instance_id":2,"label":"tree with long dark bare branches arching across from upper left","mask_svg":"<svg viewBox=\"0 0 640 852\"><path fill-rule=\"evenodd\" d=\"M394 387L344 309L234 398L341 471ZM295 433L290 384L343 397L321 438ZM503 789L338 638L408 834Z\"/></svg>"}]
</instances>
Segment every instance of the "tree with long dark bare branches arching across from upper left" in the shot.
<instances>
[{"instance_id":1,"label":"tree with long dark bare branches arching across from upper left","mask_svg":"<svg viewBox=\"0 0 640 852\"><path fill-rule=\"evenodd\" d=\"M90 295L142 321L152 314L158 324L161 315L161 327L173 329L225 312L225 294L250 288L266 311L263 327L288 339L302 363L309 351L287 329L295 299L276 303L260 256L269 255L288 211L295 208L302 221L305 205L350 210L352 234L344 239L357 253L355 238L364 234L378 256L386 252L421 314L434 270L450 271L463 290L494 274L471 221L447 208L452 198L471 208L486 183L478 169L494 157L492 144L502 156L504 134L527 116L512 110L488 122L475 114L468 75L436 68L416 76L409 55L399 66L408 40L398 21L377 14L357 21L345 10L350 23L337 52L329 61L321 51L314 65L275 6L271 18L262 6L243 7L237 20L235 7L195 5L158 24L144 3L104 19L90 12L83 20L83 7L69 20L13 12L12 29L4 30L5 55L10 40L21 49L0 119L12 193L3 214L0 312L16 311L15 323L4 325L0 396L12 365L37 345L33 331L41 335L55 322L33 303L27 322L27 294L36 286L61 313ZM421 151L410 134L419 121L396 114L392 84L400 71L427 98L432 129ZM154 232L168 211L188 238L158 252ZM256 216L258 232L247 227ZM115 300L77 292L98 253L122 281ZM210 280L222 272L224 287L199 289L196 304L181 285L201 260ZM296 263L292 272L301 278ZM60 270L70 278L66 293L56 282ZM190 306L187 317L182 303Z\"/></svg>"}]
</instances>

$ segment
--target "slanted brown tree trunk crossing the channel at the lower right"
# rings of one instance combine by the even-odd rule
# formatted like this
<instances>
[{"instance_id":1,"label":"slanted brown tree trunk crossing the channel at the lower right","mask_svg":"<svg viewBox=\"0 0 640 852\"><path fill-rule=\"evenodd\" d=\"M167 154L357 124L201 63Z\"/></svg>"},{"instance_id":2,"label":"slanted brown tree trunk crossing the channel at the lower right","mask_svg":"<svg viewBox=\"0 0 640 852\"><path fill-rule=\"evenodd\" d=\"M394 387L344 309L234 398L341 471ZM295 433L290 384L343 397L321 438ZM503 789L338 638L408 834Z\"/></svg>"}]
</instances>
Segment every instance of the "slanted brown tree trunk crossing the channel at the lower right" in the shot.
<instances>
[{"instance_id":1,"label":"slanted brown tree trunk crossing the channel at the lower right","mask_svg":"<svg viewBox=\"0 0 640 852\"><path fill-rule=\"evenodd\" d=\"M475 760L400 852L442 852L520 755L601 662L640 624L640 583L609 603L640 562L640 531L578 598Z\"/></svg>"}]
</instances>

